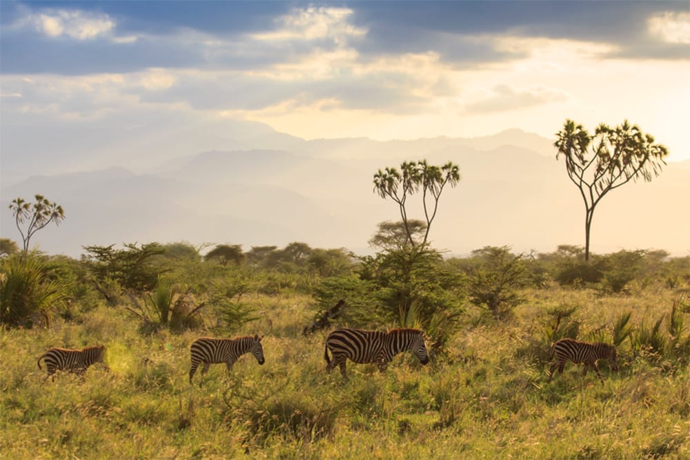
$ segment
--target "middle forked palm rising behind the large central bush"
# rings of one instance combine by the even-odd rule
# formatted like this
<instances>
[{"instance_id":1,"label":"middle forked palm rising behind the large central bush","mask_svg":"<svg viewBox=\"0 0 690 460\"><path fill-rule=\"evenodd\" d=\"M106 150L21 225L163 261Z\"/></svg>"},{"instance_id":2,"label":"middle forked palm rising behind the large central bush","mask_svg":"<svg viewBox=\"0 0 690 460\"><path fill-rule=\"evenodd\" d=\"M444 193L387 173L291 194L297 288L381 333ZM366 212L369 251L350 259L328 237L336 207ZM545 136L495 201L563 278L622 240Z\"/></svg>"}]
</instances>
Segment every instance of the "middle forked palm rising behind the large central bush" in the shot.
<instances>
[{"instance_id":1,"label":"middle forked palm rising behind the large central bush","mask_svg":"<svg viewBox=\"0 0 690 460\"><path fill-rule=\"evenodd\" d=\"M400 165L400 172L395 168L378 170L374 174L374 190L380 197L393 199L400 207L400 217L405 227L411 246L417 246L413 239L411 220L407 217L407 197L422 192L422 206L426 219L426 231L421 245L428 240L431 223L436 217L438 201L446 185L455 187L460 181L460 168L450 161L444 166L433 166L422 161L406 161Z\"/></svg>"}]
</instances>

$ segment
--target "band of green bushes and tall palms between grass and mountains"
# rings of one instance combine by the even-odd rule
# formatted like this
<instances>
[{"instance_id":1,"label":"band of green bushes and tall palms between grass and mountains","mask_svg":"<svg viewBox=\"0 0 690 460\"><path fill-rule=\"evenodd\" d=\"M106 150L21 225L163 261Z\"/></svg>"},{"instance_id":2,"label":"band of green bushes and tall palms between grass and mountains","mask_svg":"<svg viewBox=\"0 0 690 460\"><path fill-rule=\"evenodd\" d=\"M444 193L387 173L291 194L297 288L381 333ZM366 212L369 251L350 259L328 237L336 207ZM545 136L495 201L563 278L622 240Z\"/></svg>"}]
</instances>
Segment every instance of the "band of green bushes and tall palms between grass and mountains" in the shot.
<instances>
[{"instance_id":1,"label":"band of green bushes and tall palms between grass and mountains","mask_svg":"<svg viewBox=\"0 0 690 460\"><path fill-rule=\"evenodd\" d=\"M557 157L578 186L586 208L585 246L559 246L549 254L513 254L509 246L479 248L469 257L443 257L429 234L444 190L460 181L453 163L433 166L406 161L373 176L373 191L395 203L400 221L379 223L369 241L376 252L359 256L344 248L311 248L293 242L284 248L240 244L195 247L188 243L125 243L85 246L80 260L29 250L30 239L49 223L65 219L61 206L36 195L10 204L23 249L0 239L2 266L0 323L28 326L88 310L101 301L126 305L146 330L184 329L213 318L212 327L238 328L257 319L248 292L279 294L298 290L314 299L315 317L345 302L342 321L352 326L424 328L433 348L442 350L457 329L467 302L494 319L510 317L524 301L522 290L549 283L605 292L624 292L633 281L651 279L669 286L687 284L687 257L663 251L591 254L593 212L611 190L637 179L651 180L667 155L637 126L600 125L590 135L566 120L557 134ZM409 214L418 199L423 219ZM208 325L207 325L208 326Z\"/></svg>"}]
</instances>

